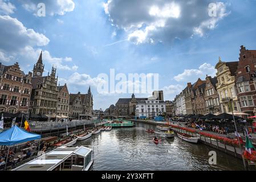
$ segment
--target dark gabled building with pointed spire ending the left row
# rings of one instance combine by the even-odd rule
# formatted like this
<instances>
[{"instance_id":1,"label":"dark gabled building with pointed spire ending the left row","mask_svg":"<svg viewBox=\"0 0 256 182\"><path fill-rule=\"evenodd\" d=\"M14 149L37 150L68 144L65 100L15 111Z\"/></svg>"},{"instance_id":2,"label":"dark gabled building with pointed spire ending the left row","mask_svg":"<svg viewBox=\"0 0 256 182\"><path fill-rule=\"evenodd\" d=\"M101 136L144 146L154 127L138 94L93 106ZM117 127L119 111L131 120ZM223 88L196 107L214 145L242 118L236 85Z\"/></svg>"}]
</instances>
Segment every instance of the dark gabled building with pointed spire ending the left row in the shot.
<instances>
[{"instance_id":1,"label":"dark gabled building with pointed spire ending the left row","mask_svg":"<svg viewBox=\"0 0 256 182\"><path fill-rule=\"evenodd\" d=\"M93 97L91 87L87 94L70 94L70 117L74 119L85 119L92 115Z\"/></svg>"}]
</instances>

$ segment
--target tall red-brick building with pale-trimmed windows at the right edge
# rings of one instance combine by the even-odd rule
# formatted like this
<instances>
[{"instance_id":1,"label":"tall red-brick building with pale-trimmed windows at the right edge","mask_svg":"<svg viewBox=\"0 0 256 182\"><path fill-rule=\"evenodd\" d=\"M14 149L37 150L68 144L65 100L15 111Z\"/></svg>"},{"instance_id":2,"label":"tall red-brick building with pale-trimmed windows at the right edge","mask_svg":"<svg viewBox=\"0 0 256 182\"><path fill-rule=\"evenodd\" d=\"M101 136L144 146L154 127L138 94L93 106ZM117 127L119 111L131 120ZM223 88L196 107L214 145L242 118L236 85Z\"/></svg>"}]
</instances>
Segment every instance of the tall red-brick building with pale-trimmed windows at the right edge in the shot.
<instances>
[{"instance_id":1,"label":"tall red-brick building with pale-trimmed windows at the right edge","mask_svg":"<svg viewBox=\"0 0 256 182\"><path fill-rule=\"evenodd\" d=\"M256 50L248 50L241 46L235 84L241 111L254 115L256 113Z\"/></svg>"}]
</instances>

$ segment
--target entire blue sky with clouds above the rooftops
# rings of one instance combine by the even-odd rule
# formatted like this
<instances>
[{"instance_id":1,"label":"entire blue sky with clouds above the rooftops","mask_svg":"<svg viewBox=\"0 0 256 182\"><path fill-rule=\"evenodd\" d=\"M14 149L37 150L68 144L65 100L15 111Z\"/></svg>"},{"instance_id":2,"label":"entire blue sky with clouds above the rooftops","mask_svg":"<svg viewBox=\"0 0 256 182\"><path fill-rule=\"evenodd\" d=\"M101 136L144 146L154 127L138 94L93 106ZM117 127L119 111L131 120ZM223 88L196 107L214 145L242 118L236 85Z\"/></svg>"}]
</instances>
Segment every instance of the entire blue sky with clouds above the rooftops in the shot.
<instances>
[{"instance_id":1,"label":"entire blue sky with clouds above the rooftops","mask_svg":"<svg viewBox=\"0 0 256 182\"><path fill-rule=\"evenodd\" d=\"M44 75L55 65L69 92L91 85L94 109L131 97L97 92L97 76L112 68L159 73L159 89L173 100L187 82L214 76L219 56L235 61L241 45L256 49L255 7L255 0L0 0L0 62L18 61L27 73L42 50Z\"/></svg>"}]
</instances>

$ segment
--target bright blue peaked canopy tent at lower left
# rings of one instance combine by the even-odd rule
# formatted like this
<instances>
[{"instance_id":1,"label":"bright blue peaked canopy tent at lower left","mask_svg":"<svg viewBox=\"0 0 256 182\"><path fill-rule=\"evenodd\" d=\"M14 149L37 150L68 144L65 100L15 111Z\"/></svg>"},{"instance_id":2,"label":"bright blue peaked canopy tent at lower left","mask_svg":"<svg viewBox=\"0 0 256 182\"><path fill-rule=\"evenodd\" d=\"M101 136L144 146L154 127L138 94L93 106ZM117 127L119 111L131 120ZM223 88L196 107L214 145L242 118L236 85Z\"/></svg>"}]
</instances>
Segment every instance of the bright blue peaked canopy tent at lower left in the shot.
<instances>
[{"instance_id":1,"label":"bright blue peaked canopy tent at lower left","mask_svg":"<svg viewBox=\"0 0 256 182\"><path fill-rule=\"evenodd\" d=\"M14 126L0 133L0 146L11 146L40 138L41 135L29 133L18 126Z\"/></svg>"}]
</instances>

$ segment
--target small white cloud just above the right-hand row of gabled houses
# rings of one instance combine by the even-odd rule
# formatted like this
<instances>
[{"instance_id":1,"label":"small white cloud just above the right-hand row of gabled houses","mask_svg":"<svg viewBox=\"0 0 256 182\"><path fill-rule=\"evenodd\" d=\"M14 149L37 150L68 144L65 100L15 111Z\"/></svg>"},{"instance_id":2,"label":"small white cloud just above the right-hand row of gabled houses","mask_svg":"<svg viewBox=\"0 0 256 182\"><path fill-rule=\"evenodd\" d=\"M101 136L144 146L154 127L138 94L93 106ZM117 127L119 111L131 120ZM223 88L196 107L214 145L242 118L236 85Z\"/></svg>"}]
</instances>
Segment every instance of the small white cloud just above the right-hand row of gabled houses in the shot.
<instances>
[{"instance_id":1,"label":"small white cloud just above the right-hand row of gabled houses","mask_svg":"<svg viewBox=\"0 0 256 182\"><path fill-rule=\"evenodd\" d=\"M216 76L216 72L217 71L213 65L204 63L200 65L198 69L185 69L183 73L174 76L174 80L192 82L197 80L199 77L205 79L206 75L214 77Z\"/></svg>"}]
</instances>

